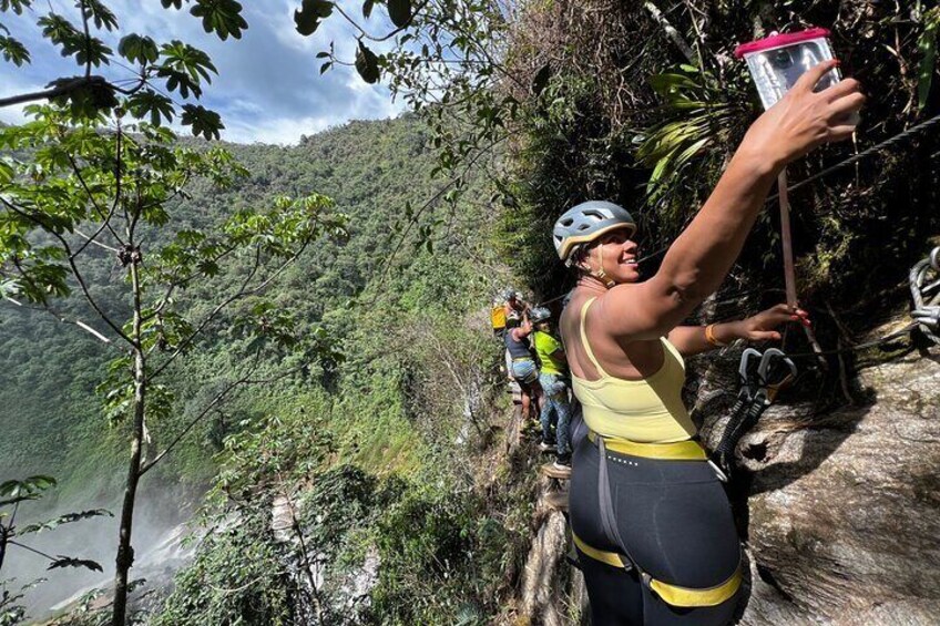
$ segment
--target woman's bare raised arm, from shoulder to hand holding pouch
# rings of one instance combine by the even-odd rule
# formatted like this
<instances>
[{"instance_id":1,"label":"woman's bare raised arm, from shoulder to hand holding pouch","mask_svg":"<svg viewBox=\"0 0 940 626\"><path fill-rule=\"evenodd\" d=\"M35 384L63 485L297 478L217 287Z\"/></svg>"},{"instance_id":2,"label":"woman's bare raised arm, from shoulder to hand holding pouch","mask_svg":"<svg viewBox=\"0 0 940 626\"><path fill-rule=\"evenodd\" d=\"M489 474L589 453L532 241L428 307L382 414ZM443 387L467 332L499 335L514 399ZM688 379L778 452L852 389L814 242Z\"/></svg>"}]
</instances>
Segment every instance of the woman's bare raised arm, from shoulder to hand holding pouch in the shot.
<instances>
[{"instance_id":1,"label":"woman's bare raised arm, from shoulder to hand holding pouch","mask_svg":"<svg viewBox=\"0 0 940 626\"><path fill-rule=\"evenodd\" d=\"M602 332L654 339L685 319L724 280L764 206L780 170L814 147L851 136L848 123L865 102L858 82L846 79L813 89L838 61L807 71L748 130L715 191L666 253L650 280L613 287L599 301Z\"/></svg>"}]
</instances>

